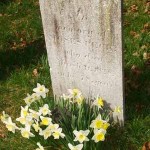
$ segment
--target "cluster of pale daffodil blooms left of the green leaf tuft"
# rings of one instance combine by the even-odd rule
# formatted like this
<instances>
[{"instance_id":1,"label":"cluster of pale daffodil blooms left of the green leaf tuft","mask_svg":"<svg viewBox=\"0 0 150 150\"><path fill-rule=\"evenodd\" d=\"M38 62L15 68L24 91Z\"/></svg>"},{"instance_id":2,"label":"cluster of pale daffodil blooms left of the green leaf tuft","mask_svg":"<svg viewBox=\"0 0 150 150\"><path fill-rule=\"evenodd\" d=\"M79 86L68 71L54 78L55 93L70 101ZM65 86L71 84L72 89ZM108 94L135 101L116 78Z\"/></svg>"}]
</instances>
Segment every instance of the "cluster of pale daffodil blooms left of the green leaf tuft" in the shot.
<instances>
[{"instance_id":1,"label":"cluster of pale daffodil blooms left of the green leaf tuft","mask_svg":"<svg viewBox=\"0 0 150 150\"><path fill-rule=\"evenodd\" d=\"M32 95L29 95L24 99L27 104L25 107L21 106L20 117L16 119L20 123L21 127L18 127L16 123L12 122L11 117L4 111L1 116L1 121L6 125L8 131L15 133L16 130L20 131L24 138L29 139L30 137L35 137L35 134L42 136L44 140L49 137L54 139L64 138L65 135L62 133L62 128L59 124L54 124L51 118L51 110L48 104L44 104L39 107L38 111L30 109L30 104L39 100L40 97L45 98L48 89L45 86L37 84L37 88L33 89ZM30 99L30 100L29 100ZM38 142L39 148L36 150L44 150L44 147Z\"/></svg>"}]
</instances>

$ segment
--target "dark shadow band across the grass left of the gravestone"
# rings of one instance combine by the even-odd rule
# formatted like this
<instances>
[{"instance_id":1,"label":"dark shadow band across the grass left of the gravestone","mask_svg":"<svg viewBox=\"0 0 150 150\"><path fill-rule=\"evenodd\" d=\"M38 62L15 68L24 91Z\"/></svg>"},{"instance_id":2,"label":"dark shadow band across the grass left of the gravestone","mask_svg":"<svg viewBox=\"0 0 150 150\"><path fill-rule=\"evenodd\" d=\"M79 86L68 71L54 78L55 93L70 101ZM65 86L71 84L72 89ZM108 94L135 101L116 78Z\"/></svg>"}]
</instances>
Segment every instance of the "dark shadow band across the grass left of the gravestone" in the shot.
<instances>
[{"instance_id":1,"label":"dark shadow band across the grass left of the gravestone","mask_svg":"<svg viewBox=\"0 0 150 150\"><path fill-rule=\"evenodd\" d=\"M27 68L36 64L43 54L46 55L44 39L31 42L24 48L0 51L0 81L6 80L12 71L22 66Z\"/></svg>"}]
</instances>

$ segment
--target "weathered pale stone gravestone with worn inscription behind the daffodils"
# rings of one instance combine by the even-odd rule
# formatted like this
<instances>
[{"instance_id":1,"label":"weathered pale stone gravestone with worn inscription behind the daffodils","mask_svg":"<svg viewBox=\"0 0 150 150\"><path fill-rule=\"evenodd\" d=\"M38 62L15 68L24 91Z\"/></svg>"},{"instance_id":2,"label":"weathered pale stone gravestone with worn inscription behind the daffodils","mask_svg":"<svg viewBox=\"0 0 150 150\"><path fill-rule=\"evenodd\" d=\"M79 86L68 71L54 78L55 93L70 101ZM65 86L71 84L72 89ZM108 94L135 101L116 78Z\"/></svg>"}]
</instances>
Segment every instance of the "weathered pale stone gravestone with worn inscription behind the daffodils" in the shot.
<instances>
[{"instance_id":1,"label":"weathered pale stone gravestone with worn inscription behind the daffodils","mask_svg":"<svg viewBox=\"0 0 150 150\"><path fill-rule=\"evenodd\" d=\"M121 0L40 0L40 9L54 94L78 88L123 109Z\"/></svg>"}]
</instances>

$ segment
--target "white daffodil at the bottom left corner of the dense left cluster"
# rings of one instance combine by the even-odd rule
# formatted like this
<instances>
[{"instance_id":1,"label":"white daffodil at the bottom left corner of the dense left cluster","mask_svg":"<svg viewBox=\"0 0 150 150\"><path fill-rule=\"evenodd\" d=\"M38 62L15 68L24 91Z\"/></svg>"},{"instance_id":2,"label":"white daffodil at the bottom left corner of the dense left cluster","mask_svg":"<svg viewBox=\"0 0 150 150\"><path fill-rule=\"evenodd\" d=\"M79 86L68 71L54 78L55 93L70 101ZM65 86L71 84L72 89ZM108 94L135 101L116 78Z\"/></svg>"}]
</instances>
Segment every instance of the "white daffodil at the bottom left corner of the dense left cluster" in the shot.
<instances>
[{"instance_id":1,"label":"white daffodil at the bottom left corner of the dense left cluster","mask_svg":"<svg viewBox=\"0 0 150 150\"><path fill-rule=\"evenodd\" d=\"M21 135L24 138L29 139L29 137L35 137L35 135L33 133L30 132L30 125L26 125L25 128L21 128Z\"/></svg>"}]
</instances>

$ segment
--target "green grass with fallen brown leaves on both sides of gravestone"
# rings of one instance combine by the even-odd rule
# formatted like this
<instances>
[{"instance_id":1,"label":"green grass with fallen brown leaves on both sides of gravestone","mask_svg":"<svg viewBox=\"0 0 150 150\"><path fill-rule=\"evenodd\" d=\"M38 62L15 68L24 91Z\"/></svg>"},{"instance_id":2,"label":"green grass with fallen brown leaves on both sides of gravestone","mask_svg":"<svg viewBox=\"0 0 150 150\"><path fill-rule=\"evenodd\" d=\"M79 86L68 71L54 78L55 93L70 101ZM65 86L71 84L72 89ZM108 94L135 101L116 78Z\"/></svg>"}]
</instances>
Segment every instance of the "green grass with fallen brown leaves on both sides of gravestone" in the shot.
<instances>
[{"instance_id":1,"label":"green grass with fallen brown leaves on both sides of gravestone","mask_svg":"<svg viewBox=\"0 0 150 150\"><path fill-rule=\"evenodd\" d=\"M123 6L126 122L124 128L110 129L104 150L140 150L150 141L150 59L143 59L144 53L150 54L148 1L125 0ZM0 113L5 110L18 117L23 98L37 82L52 93L38 0L1 0ZM1 150L33 147L20 135L8 133L0 122Z\"/></svg>"}]
</instances>

